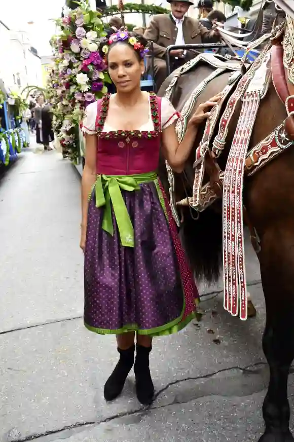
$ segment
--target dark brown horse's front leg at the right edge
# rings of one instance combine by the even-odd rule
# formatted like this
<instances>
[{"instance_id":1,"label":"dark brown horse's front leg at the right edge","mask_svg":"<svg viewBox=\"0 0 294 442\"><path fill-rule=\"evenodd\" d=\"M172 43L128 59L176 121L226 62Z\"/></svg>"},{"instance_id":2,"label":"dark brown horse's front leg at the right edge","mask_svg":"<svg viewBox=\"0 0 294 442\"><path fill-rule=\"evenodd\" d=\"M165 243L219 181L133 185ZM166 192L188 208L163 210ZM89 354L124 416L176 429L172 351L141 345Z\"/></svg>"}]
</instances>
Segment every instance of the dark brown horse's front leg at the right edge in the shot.
<instances>
[{"instance_id":1,"label":"dark brown horse's front leg at the right edge","mask_svg":"<svg viewBox=\"0 0 294 442\"><path fill-rule=\"evenodd\" d=\"M267 320L263 350L270 382L263 404L266 430L259 442L293 442L289 431L287 381L294 358L294 232L292 221L267 230L262 238L260 264Z\"/></svg>"}]
</instances>

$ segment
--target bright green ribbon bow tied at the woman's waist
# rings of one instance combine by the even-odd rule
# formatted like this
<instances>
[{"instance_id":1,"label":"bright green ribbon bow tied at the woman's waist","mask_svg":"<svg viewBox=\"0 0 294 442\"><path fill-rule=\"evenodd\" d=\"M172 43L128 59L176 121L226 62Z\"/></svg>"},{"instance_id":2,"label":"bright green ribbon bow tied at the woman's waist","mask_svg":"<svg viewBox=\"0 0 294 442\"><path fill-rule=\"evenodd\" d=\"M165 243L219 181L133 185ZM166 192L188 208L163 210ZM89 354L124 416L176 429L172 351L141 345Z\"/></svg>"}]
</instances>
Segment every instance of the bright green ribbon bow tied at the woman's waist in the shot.
<instances>
[{"instance_id":1,"label":"bright green ribbon bow tied at the woman's waist","mask_svg":"<svg viewBox=\"0 0 294 442\"><path fill-rule=\"evenodd\" d=\"M102 229L114 235L112 221L111 203L118 229L121 243L125 247L134 247L134 228L130 215L126 208L121 189L133 192L140 189L143 182L154 181L157 178L155 172L141 173L138 175L108 176L98 175L95 183L96 207L105 206L102 220Z\"/></svg>"}]
</instances>

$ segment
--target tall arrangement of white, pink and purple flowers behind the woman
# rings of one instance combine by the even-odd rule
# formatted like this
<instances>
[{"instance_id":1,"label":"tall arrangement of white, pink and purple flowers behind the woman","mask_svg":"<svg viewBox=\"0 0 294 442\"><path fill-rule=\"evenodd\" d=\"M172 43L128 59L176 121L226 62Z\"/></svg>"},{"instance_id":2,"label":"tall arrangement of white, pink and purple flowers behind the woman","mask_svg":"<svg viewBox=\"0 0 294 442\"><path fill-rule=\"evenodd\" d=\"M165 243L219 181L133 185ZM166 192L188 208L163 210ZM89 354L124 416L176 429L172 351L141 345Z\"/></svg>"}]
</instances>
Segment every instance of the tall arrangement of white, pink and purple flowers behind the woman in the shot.
<instances>
[{"instance_id":1,"label":"tall arrangement of white, pink and purple flowers behind the woman","mask_svg":"<svg viewBox=\"0 0 294 442\"><path fill-rule=\"evenodd\" d=\"M54 63L47 93L53 106L53 130L63 155L75 161L80 155L78 128L86 106L107 92L111 83L99 45L106 33L100 14L81 0L76 9L63 9L56 20L60 31L51 39Z\"/></svg>"}]
</instances>

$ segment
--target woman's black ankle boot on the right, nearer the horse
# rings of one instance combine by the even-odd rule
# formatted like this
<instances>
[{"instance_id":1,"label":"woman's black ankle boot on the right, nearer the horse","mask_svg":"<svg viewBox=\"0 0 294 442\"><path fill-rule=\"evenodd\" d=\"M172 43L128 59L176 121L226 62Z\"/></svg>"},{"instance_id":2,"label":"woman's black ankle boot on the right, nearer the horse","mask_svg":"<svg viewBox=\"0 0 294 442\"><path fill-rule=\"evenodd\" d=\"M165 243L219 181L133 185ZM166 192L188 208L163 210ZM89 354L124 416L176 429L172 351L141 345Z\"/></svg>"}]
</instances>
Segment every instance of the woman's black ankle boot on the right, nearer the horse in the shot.
<instances>
[{"instance_id":1,"label":"woman's black ankle boot on the right, nearer the horse","mask_svg":"<svg viewBox=\"0 0 294 442\"><path fill-rule=\"evenodd\" d=\"M139 402L143 405L150 405L154 396L154 385L149 369L149 353L152 347L136 345L136 360L134 372L136 378L136 393Z\"/></svg>"}]
</instances>

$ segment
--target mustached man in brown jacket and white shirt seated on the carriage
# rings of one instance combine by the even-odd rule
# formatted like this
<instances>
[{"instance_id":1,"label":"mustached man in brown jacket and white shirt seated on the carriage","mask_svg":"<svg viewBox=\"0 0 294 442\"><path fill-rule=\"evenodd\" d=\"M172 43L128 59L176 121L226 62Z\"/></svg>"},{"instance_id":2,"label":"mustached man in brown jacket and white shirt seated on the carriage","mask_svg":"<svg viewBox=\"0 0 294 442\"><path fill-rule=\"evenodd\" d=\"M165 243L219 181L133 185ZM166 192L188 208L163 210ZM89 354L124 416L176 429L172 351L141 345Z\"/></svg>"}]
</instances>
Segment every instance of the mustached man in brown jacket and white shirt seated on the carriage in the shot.
<instances>
[{"instance_id":1,"label":"mustached man in brown jacket and white shirt seated on the carriage","mask_svg":"<svg viewBox=\"0 0 294 442\"><path fill-rule=\"evenodd\" d=\"M186 14L194 3L190 0L167 0L170 3L170 14L154 15L144 32L146 40L153 42L154 52L154 77L156 91L167 77L166 71L166 48L170 45L191 45L202 43L203 38L219 39L217 30L206 29L197 19L186 17ZM172 70L185 64L195 57L195 54L182 49L170 51L172 57ZM151 57L148 68L150 69Z\"/></svg>"}]
</instances>

